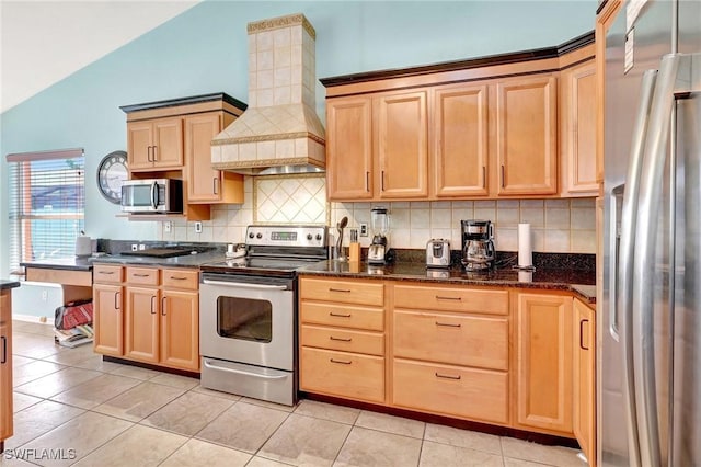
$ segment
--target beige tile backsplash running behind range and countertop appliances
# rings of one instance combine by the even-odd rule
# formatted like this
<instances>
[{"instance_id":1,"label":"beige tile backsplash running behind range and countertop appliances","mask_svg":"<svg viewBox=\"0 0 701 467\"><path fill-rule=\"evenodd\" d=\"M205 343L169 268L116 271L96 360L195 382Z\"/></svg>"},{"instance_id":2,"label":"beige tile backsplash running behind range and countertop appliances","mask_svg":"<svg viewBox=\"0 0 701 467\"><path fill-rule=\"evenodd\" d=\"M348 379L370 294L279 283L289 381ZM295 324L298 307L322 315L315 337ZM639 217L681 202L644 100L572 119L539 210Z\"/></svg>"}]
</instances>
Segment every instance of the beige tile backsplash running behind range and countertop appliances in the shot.
<instances>
[{"instance_id":1,"label":"beige tile backsplash running behind range and countertop appliances","mask_svg":"<svg viewBox=\"0 0 701 467\"><path fill-rule=\"evenodd\" d=\"M243 205L212 206L212 219L203 221L202 234L195 234L194 223L187 221L175 221L165 232L162 223L160 240L240 242L250 224L335 226L343 216L348 217L348 230L361 223L370 227L370 209L384 206L390 212L390 242L394 248L423 249L429 239L445 238L458 250L460 220L489 219L494 223L494 242L499 251L517 251L518 224L529 223L533 251L596 253L594 198L327 203L323 174L246 176L244 191ZM335 229L330 231L335 234ZM366 247L370 239L360 237L360 242Z\"/></svg>"}]
</instances>

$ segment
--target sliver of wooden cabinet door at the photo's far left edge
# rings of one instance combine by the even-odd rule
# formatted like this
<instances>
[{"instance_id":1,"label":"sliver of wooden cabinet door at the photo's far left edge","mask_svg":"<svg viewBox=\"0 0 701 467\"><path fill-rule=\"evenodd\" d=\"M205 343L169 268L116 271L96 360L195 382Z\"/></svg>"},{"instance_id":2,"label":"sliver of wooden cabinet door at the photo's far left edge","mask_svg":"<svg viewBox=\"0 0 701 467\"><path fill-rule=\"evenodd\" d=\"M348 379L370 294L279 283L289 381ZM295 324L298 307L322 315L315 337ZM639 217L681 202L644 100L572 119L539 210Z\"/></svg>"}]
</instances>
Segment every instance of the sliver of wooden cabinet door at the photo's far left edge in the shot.
<instances>
[{"instance_id":1,"label":"sliver of wooden cabinet door at the photo's far left edge","mask_svg":"<svg viewBox=\"0 0 701 467\"><path fill-rule=\"evenodd\" d=\"M0 441L12 436L12 298L0 293Z\"/></svg>"}]
</instances>

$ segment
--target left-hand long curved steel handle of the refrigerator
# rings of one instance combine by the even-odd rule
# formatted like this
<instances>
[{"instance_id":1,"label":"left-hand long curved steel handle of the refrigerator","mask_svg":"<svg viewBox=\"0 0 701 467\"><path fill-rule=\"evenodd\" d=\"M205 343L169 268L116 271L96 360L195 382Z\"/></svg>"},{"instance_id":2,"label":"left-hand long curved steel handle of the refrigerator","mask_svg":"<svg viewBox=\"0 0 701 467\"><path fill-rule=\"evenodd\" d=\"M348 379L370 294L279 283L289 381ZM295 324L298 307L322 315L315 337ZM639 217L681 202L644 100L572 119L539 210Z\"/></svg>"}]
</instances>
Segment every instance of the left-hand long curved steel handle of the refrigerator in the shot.
<instances>
[{"instance_id":1,"label":"left-hand long curved steel handle of the refrigerator","mask_svg":"<svg viewBox=\"0 0 701 467\"><path fill-rule=\"evenodd\" d=\"M609 252L611 269L617 274L611 274L610 294L616 297L609 304L609 319L611 334L618 331L620 319L620 338L622 356L623 356L623 400L624 411L628 423L628 445L631 466L640 466L640 446L639 446L639 426L635 410L635 376L633 365L633 258L635 247L635 231L637 224L637 198L640 191L640 179L643 167L643 155L645 149L645 138L648 130L650 107L653 101L655 83L657 79L657 70L647 70L643 75L640 105L635 126L633 127L633 140L631 141L631 155L628 163L628 173L625 176L625 186L623 189L623 206L621 209L621 240L620 248L617 251L616 237L611 237L611 251ZM617 234L617 194L620 192L617 186L611 193L611 232ZM617 264L618 261L618 264ZM617 277L618 276L618 277ZM618 303L617 303L618 301ZM616 327L616 329L614 329ZM614 335L614 338L617 337Z\"/></svg>"}]
</instances>

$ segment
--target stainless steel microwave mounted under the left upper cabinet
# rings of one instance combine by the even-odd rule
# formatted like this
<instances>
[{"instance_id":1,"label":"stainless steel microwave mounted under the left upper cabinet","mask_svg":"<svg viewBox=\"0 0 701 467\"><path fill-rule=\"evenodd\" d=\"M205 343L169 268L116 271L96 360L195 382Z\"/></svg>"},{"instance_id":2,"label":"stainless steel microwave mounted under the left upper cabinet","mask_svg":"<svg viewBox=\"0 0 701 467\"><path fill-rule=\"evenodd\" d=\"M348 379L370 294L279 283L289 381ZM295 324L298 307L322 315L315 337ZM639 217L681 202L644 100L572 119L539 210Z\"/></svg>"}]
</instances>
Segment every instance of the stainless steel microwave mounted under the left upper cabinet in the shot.
<instances>
[{"instance_id":1,"label":"stainless steel microwave mounted under the left upper cabinet","mask_svg":"<svg viewBox=\"0 0 701 467\"><path fill-rule=\"evenodd\" d=\"M183 212L183 181L177 179L127 180L122 185L122 210L133 214Z\"/></svg>"}]
</instances>

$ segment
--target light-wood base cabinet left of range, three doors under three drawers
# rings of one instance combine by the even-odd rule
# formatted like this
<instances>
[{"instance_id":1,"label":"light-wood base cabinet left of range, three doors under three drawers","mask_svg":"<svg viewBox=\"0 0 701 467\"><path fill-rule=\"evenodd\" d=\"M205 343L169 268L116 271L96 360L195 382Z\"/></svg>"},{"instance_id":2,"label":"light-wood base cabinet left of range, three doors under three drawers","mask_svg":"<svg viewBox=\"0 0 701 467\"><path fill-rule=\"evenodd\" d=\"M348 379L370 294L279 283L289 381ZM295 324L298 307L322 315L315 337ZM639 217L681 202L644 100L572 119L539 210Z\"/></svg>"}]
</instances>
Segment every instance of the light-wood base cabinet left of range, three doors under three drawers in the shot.
<instances>
[{"instance_id":1,"label":"light-wood base cabinet left of range, three doors under three drawers","mask_svg":"<svg viewBox=\"0 0 701 467\"><path fill-rule=\"evenodd\" d=\"M95 352L199 371L198 271L96 264Z\"/></svg>"}]
</instances>

